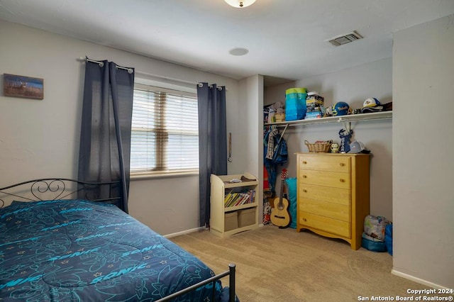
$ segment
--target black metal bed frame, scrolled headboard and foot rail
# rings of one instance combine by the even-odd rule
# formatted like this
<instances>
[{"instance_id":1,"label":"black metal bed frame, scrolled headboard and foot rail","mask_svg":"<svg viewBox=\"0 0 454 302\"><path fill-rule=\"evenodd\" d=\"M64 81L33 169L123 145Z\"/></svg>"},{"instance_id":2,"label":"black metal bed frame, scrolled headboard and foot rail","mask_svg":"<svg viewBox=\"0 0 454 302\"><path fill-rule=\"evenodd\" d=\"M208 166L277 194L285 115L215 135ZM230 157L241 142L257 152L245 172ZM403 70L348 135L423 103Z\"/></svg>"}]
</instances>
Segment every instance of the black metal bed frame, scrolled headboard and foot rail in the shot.
<instances>
[{"instance_id":1,"label":"black metal bed frame, scrolled headboard and foot rail","mask_svg":"<svg viewBox=\"0 0 454 302\"><path fill-rule=\"evenodd\" d=\"M77 188L68 188L68 186L72 184L73 186L77 186ZM116 197L109 197L109 198L93 198L94 192L96 190L100 190L101 186L110 186L112 184L120 184L120 181L106 181L106 182L89 182L89 181L79 181L75 179L67 179L67 178L43 178L43 179L32 179L28 181L23 181L18 184L12 184L11 186L4 186L3 188L0 188L0 208L3 208L5 206L5 201L2 196L7 196L9 198L20 198L21 201L55 201L55 200L60 200L60 199L65 199L71 196L74 196L74 194L77 194L79 191L86 191L84 198L89 201L96 201L96 202L109 202L109 201L115 201L118 199L121 199L121 196L116 196ZM28 189L29 191L22 191L22 193L19 192L13 192L11 193L7 190L9 189L14 189L14 188L19 188L21 186L26 186L29 185L30 188ZM88 190L88 191L87 191ZM92 193L93 196L90 196ZM2 195L3 194L3 195ZM47 194L47 195L45 195ZM49 194L53 194L50 198L48 197ZM77 198L77 197L75 197ZM228 271L223 272L221 274L217 274L216 276L212 276L209 279L206 279L204 281L200 281L197 284L194 284L192 286L187 287L186 289L182 289L181 291L177 291L175 293L170 294L169 296L166 296L164 298L161 298L160 300L157 300L157 302L165 302L165 301L171 301L172 299L175 299L179 296L184 295L184 293L189 293L190 291L194 291L195 289L198 289L201 286L205 286L206 284L213 284L213 300L215 301L216 297L216 286L215 282L219 279L224 278L225 276L229 276L229 302L235 302L236 301L236 265L235 264L228 264Z\"/></svg>"}]
</instances>

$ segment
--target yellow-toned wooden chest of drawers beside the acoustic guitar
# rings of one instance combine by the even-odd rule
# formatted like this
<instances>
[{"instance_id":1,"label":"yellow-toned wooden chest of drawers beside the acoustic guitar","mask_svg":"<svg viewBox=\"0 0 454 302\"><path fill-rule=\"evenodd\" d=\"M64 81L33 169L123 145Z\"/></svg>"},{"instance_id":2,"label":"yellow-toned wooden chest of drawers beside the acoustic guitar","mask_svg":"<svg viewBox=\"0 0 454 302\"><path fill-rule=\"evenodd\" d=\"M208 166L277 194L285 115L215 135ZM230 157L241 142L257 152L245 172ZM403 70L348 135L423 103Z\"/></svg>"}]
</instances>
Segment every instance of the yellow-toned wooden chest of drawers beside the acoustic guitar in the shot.
<instances>
[{"instance_id":1,"label":"yellow-toned wooden chest of drawers beside the acoustic guitar","mask_svg":"<svg viewBox=\"0 0 454 302\"><path fill-rule=\"evenodd\" d=\"M297 153L297 231L308 229L361 247L369 215L369 155Z\"/></svg>"}]
</instances>

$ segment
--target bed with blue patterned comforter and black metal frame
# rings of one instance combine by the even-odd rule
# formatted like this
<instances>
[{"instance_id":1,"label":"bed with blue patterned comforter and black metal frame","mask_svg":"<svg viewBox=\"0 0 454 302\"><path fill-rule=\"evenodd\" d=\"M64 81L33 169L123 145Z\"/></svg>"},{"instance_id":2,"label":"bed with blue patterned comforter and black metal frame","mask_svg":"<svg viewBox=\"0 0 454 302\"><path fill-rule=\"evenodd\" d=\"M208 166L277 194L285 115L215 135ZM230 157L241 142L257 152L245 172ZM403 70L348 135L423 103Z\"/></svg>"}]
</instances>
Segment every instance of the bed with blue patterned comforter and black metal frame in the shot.
<instances>
[{"instance_id":1,"label":"bed with blue patterned comforter and black metal frame","mask_svg":"<svg viewBox=\"0 0 454 302\"><path fill-rule=\"evenodd\" d=\"M0 188L0 301L238 301L234 264L215 275L113 198L74 197L103 185L35 179Z\"/></svg>"}]
</instances>

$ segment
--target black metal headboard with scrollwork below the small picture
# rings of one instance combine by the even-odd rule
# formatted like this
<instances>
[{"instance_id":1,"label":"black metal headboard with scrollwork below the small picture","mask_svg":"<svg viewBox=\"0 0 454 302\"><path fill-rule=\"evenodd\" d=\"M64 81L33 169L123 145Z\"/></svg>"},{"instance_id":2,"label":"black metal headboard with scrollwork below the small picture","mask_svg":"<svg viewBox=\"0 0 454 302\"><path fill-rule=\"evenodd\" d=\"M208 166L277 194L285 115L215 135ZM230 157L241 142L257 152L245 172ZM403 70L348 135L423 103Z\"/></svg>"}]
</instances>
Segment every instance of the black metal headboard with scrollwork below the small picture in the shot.
<instances>
[{"instance_id":1,"label":"black metal headboard with scrollwork below the small picture","mask_svg":"<svg viewBox=\"0 0 454 302\"><path fill-rule=\"evenodd\" d=\"M0 188L0 208L11 201L55 201L58 199L83 198L89 201L115 203L121 196L97 198L101 190L109 190L120 181L87 182L66 178L44 178L23 181Z\"/></svg>"}]
</instances>

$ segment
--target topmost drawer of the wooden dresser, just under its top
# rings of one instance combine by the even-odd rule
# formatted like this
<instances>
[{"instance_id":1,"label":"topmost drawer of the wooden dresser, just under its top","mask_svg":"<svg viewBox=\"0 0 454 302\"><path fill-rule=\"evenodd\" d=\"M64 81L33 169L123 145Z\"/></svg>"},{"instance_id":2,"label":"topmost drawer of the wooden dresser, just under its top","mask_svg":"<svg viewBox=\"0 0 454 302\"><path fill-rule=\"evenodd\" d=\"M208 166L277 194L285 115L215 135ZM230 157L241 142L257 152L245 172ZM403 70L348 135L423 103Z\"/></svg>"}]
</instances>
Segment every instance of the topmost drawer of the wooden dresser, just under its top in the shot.
<instances>
[{"instance_id":1,"label":"topmost drawer of the wooden dresser, just under its top","mask_svg":"<svg viewBox=\"0 0 454 302\"><path fill-rule=\"evenodd\" d=\"M300 155L298 157L298 167L299 169L348 173L350 172L350 157Z\"/></svg>"}]
</instances>

